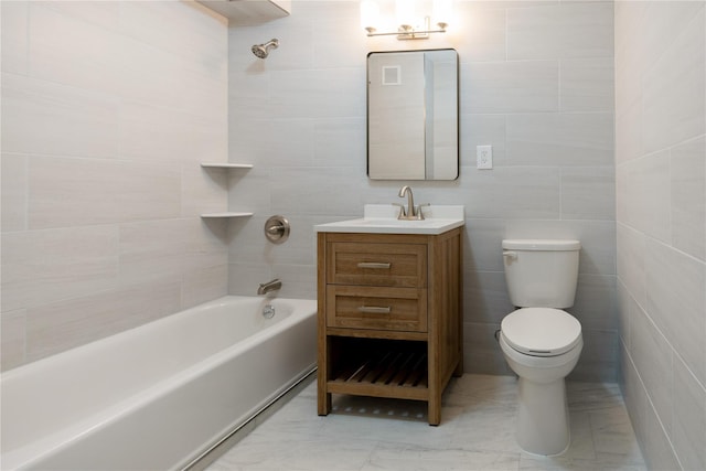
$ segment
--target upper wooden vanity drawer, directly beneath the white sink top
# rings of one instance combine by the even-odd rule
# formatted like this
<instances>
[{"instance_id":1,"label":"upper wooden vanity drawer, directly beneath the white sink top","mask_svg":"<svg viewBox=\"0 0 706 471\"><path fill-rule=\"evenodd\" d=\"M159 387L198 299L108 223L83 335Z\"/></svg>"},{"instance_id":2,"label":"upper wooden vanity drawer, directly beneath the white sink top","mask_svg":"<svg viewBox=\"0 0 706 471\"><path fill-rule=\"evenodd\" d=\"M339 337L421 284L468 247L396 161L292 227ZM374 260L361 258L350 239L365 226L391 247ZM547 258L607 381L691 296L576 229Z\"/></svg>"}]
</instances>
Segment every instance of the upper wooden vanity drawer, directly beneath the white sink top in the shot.
<instances>
[{"instance_id":1,"label":"upper wooden vanity drawer, directly beneath the white sink top","mask_svg":"<svg viewBox=\"0 0 706 471\"><path fill-rule=\"evenodd\" d=\"M424 288L427 246L422 244L329 243L327 282Z\"/></svg>"}]
</instances>

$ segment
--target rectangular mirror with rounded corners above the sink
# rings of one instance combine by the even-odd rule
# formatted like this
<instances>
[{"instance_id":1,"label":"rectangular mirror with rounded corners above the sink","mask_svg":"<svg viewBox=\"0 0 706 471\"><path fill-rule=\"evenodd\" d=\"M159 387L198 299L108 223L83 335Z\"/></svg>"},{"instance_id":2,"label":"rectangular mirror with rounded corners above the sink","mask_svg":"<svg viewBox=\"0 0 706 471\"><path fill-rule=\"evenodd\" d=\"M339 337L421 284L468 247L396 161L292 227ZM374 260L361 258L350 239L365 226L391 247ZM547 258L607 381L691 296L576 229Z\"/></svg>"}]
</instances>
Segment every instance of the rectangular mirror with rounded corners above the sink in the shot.
<instances>
[{"instance_id":1,"label":"rectangular mirror with rounded corners above the sink","mask_svg":"<svg viewBox=\"0 0 706 471\"><path fill-rule=\"evenodd\" d=\"M454 50L367 55L367 175L456 180L459 175Z\"/></svg>"}]
</instances>

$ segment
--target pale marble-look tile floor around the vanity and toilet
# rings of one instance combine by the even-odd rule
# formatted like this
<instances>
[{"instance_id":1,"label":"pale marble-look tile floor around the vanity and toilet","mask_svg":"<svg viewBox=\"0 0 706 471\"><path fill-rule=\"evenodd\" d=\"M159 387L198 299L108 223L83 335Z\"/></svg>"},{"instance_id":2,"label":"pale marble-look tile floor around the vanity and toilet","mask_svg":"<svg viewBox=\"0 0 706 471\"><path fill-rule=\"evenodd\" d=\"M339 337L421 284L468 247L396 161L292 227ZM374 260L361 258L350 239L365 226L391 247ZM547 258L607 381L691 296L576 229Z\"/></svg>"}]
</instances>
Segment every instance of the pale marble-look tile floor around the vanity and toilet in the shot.
<instances>
[{"instance_id":1,"label":"pale marble-look tile floor around the vanity and toilet","mask_svg":"<svg viewBox=\"0 0 706 471\"><path fill-rule=\"evenodd\" d=\"M559 457L523 452L515 442L513 376L463 375L443 395L441 425L426 403L333 397L317 415L312 382L208 471L646 470L620 389L567 383L571 446Z\"/></svg>"}]
</instances>

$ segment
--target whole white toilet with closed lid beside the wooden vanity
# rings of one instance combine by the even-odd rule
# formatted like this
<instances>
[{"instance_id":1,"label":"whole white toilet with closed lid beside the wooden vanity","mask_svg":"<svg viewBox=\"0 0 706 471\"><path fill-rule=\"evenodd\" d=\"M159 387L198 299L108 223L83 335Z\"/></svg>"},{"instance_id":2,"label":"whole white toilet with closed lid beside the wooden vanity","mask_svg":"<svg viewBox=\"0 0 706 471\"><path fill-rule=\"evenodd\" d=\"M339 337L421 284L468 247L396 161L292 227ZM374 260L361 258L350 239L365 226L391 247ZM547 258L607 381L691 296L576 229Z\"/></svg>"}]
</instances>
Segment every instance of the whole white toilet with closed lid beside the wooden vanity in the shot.
<instances>
[{"instance_id":1,"label":"whole white toilet with closed lid beside the wooden vanity","mask_svg":"<svg viewBox=\"0 0 706 471\"><path fill-rule=\"evenodd\" d=\"M535 454L559 454L570 441L564 378L584 346L574 306L578 240L503 240L505 279L513 304L499 335L510 367L520 376L517 443Z\"/></svg>"}]
</instances>

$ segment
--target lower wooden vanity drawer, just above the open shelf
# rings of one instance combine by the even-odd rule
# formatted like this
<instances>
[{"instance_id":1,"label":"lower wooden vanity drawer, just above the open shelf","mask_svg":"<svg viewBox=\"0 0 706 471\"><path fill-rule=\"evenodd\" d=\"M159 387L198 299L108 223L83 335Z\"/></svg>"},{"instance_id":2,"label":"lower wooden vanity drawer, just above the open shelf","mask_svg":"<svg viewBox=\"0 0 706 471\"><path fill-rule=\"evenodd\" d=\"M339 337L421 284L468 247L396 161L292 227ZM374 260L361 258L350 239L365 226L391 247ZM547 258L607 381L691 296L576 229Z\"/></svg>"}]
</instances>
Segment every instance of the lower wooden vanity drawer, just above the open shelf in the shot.
<instances>
[{"instance_id":1,"label":"lower wooden vanity drawer, just above the open shelf","mask_svg":"<svg viewBox=\"0 0 706 471\"><path fill-rule=\"evenodd\" d=\"M427 290L330 285L327 327L426 332Z\"/></svg>"}]
</instances>

